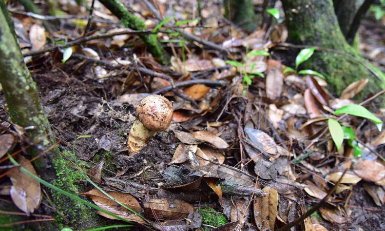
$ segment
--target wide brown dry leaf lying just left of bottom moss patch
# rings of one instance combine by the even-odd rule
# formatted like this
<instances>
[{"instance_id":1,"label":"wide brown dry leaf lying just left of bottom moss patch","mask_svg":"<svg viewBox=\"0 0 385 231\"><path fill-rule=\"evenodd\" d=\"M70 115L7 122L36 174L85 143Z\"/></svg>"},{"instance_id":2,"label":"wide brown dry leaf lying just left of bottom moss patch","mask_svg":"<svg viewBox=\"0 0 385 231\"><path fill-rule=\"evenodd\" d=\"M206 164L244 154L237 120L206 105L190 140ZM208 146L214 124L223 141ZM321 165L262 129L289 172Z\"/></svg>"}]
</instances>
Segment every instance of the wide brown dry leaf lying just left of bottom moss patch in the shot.
<instances>
[{"instance_id":1,"label":"wide brown dry leaf lying just left of bottom moss patch","mask_svg":"<svg viewBox=\"0 0 385 231\"><path fill-rule=\"evenodd\" d=\"M179 199L154 198L150 201L144 202L145 217L155 219L152 211L160 220L181 220L188 217L190 211L194 211L187 202Z\"/></svg>"}]
</instances>

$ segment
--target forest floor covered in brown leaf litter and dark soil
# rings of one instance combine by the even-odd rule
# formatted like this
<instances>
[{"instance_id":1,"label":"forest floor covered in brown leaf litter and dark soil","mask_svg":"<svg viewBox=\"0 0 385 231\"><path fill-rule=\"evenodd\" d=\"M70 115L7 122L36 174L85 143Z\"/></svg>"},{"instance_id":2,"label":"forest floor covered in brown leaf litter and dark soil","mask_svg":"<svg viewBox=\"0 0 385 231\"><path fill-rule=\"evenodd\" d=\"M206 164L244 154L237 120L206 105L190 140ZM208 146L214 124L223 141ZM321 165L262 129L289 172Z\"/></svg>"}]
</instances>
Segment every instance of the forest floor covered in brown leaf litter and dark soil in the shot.
<instances>
[{"instance_id":1,"label":"forest floor covered in brown leaf litter and dark soil","mask_svg":"<svg viewBox=\"0 0 385 231\"><path fill-rule=\"evenodd\" d=\"M157 21L139 2L130 4L131 9L146 19L148 28L155 27ZM285 65L295 66L299 50L285 43L283 25L247 35L228 25L220 3L202 2L205 27L196 21L180 27L221 44L231 51L228 55L202 49L197 41L188 42L182 36L171 39L159 33L172 54L166 66L148 55L137 36L127 34L73 46L65 63L59 50L27 60L58 146L75 153L77 161L69 158L69 167L79 162L104 190L118 191L117 197L131 195L140 204L138 212L159 230L210 230L226 223L216 230L278 229L322 200L348 169L327 204L292 230L385 230L385 133L370 120L349 115L340 122L354 130L354 139L345 140L337 150L327 129L328 118L338 118L334 110L361 103L353 97L364 81L347 86L344 95L334 95L318 76L284 73ZM161 14L170 16L168 4L158 4ZM27 52L33 43L28 35L40 33L30 28L39 21L16 13L23 10L19 5L10 8L21 47ZM177 20L196 18L195 8L189 1L179 1ZM71 14L86 16L87 11ZM123 28L98 2L93 20L90 32L94 34ZM83 31L77 23L61 20L59 32L45 33L56 42L73 40ZM385 69L383 34L385 24L368 18L360 29L359 49ZM45 46L53 46L52 41ZM260 50L268 54L246 55ZM238 70L246 67L245 71L237 71L239 63L243 66ZM170 83L160 78L164 75L187 85L177 88L182 91L165 89ZM135 108L155 91L174 103L171 125L133 155L127 140ZM8 118L3 94L0 106L1 118ZM374 101L363 106L382 121L385 118L385 111ZM1 125L2 133L14 130L6 120ZM21 141L10 151L25 144ZM75 183L81 185L77 196L99 206L114 205L90 192L93 186L87 181ZM9 188L10 181L0 179L0 186ZM6 192L2 195L2 201L12 201ZM44 206L35 213L43 214ZM1 206L1 210L8 209ZM124 215L120 209L111 211L124 218L129 215L128 210ZM213 223L205 211L222 220ZM121 223L103 219L106 225ZM148 225L138 218L131 220Z\"/></svg>"}]
</instances>

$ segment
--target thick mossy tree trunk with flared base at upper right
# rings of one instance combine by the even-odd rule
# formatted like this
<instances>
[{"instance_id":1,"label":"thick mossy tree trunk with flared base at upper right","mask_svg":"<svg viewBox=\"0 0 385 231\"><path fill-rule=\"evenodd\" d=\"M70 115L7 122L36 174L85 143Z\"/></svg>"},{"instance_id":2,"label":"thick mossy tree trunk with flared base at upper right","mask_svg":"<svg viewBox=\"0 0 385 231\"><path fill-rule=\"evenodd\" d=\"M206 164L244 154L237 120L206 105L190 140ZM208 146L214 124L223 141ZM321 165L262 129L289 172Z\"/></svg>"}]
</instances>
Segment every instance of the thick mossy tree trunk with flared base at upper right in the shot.
<instances>
[{"instance_id":1,"label":"thick mossy tree trunk with flared base at upper right","mask_svg":"<svg viewBox=\"0 0 385 231\"><path fill-rule=\"evenodd\" d=\"M297 45L325 48L317 50L300 67L323 73L331 91L337 95L352 82L364 78L369 78L370 82L357 99L384 87L383 73L363 60L345 40L332 0L282 0L282 4L288 40ZM368 67L377 74L377 78Z\"/></svg>"}]
</instances>

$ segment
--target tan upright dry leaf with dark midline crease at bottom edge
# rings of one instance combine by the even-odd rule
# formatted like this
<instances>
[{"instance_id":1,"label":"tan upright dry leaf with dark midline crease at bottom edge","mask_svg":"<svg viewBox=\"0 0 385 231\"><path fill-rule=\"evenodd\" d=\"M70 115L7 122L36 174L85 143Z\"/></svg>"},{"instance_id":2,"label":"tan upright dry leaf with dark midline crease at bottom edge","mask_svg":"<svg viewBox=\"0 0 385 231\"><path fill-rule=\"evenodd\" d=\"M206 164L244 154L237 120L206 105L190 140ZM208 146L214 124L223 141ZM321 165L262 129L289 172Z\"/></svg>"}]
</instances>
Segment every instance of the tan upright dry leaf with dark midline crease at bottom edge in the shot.
<instances>
[{"instance_id":1,"label":"tan upright dry leaf with dark midline crease at bottom edge","mask_svg":"<svg viewBox=\"0 0 385 231\"><path fill-rule=\"evenodd\" d=\"M278 192L272 187L266 186L262 189L268 192L267 197L261 198L261 220L262 226L274 230L275 219L278 213Z\"/></svg>"}]
</instances>

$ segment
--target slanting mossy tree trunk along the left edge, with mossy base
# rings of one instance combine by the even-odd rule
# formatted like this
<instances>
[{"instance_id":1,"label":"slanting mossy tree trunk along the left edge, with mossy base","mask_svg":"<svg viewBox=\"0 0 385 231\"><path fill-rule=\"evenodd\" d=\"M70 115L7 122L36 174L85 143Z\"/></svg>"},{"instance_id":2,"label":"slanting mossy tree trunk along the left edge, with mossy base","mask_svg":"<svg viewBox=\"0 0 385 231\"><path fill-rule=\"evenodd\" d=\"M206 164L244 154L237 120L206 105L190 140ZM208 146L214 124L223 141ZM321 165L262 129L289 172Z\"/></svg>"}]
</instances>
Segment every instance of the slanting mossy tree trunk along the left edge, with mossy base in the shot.
<instances>
[{"instance_id":1,"label":"slanting mossy tree trunk along the left edge, with mossy base","mask_svg":"<svg viewBox=\"0 0 385 231\"><path fill-rule=\"evenodd\" d=\"M0 1L3 6L4 1ZM10 29L12 21L7 21L7 17L9 15L6 8L1 7L0 83L3 86L11 121L21 127L28 127L28 129L25 129L25 132L32 146L29 148L28 153L32 157L36 157L55 144L55 139L40 101L37 86L23 61L20 47ZM77 171L69 167L69 162L65 161L59 149L52 149L46 155L33 162L33 164L38 175L46 181L60 186L73 194L78 193L75 186L68 181L73 178L72 176ZM46 191L49 192L50 190ZM56 194L54 191L51 191L49 196L54 203L52 206L61 216L55 215L59 218L60 222L42 223L43 226L50 225L49 228L46 227L44 230L58 230L61 226L66 225L65 221L70 222L69 224L67 223L68 226L84 229L98 221L94 211L89 210L83 204L75 203L64 196ZM65 219L62 220L63 217Z\"/></svg>"}]
</instances>

